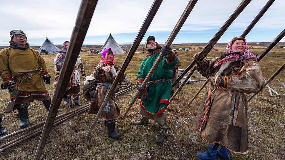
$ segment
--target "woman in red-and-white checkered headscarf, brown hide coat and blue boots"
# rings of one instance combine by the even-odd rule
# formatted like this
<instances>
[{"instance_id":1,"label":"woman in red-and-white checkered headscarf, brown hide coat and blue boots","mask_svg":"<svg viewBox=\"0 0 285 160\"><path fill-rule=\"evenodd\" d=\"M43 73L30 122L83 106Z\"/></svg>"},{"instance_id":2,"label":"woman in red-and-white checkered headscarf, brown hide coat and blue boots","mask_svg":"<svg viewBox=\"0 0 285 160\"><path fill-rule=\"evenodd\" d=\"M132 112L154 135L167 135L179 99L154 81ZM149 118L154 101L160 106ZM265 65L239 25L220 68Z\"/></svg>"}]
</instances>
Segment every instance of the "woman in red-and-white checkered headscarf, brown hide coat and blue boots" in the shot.
<instances>
[{"instance_id":1,"label":"woman in red-and-white checkered headscarf, brown hide coat and blue boots","mask_svg":"<svg viewBox=\"0 0 285 160\"><path fill-rule=\"evenodd\" d=\"M248 51L246 39L233 38L221 57L206 60L193 56L197 70L208 78L207 94L198 109L193 130L200 131L208 150L198 152L200 159L229 159L229 150L248 152L247 98L245 94L262 89L259 57Z\"/></svg>"}]
</instances>

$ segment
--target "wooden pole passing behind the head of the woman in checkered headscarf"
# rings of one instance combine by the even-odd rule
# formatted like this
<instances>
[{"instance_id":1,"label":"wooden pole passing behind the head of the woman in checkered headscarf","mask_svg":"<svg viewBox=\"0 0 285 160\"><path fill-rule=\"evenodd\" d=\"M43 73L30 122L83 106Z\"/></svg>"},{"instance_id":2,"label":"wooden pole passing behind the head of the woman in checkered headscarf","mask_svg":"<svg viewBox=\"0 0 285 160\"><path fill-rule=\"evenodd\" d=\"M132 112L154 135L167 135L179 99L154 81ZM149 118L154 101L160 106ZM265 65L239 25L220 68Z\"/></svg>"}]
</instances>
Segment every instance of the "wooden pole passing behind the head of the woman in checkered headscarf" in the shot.
<instances>
[{"instance_id":1,"label":"wooden pole passing behind the head of the woman in checkered headscarf","mask_svg":"<svg viewBox=\"0 0 285 160\"><path fill-rule=\"evenodd\" d=\"M269 9L269 7L271 6L271 4L274 2L275 0L269 0L265 6L261 9L261 11L257 14L257 16L253 19L253 21L248 25L248 27L246 28L246 30L241 34L240 37L244 38L246 37L246 35L249 33L249 31L251 31L251 29L253 28L253 26L255 26L255 24L259 21L259 19L264 15L264 13ZM206 86L206 84L209 82L209 80L207 80L203 86L199 89L199 91L197 91L197 93L195 94L195 96L191 99L191 101L187 104L187 106L189 106L193 100L198 96L198 94L202 91L202 89Z\"/></svg>"}]
</instances>

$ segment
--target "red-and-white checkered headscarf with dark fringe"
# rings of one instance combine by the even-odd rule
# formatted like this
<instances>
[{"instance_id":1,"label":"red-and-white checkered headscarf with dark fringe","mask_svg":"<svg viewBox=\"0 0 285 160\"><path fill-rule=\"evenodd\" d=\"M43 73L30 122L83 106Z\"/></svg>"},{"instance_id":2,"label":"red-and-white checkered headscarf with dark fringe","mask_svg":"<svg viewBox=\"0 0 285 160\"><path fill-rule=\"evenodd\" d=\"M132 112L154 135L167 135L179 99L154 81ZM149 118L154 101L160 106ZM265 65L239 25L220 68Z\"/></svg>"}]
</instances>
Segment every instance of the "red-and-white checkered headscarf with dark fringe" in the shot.
<instances>
[{"instance_id":1,"label":"red-and-white checkered headscarf with dark fringe","mask_svg":"<svg viewBox=\"0 0 285 160\"><path fill-rule=\"evenodd\" d=\"M226 49L226 53L233 53L233 50L231 49L231 43L233 40L236 40L238 39L238 37L234 37L229 43L228 43L228 46L227 46L227 49ZM244 41L246 42L246 39L243 38ZM246 42L246 49L244 50L244 53L242 56L240 56L240 54L230 54L226 57L224 57L222 60L220 60L219 62L217 62L215 65L214 65L214 68L218 65L221 65L223 63L226 63L228 61L237 61L237 60L241 60L241 61L245 61L245 60L253 60L253 61L257 61L259 59L259 56L257 55L254 55L253 52L249 52L248 51L248 46L247 46L247 42Z\"/></svg>"}]
</instances>

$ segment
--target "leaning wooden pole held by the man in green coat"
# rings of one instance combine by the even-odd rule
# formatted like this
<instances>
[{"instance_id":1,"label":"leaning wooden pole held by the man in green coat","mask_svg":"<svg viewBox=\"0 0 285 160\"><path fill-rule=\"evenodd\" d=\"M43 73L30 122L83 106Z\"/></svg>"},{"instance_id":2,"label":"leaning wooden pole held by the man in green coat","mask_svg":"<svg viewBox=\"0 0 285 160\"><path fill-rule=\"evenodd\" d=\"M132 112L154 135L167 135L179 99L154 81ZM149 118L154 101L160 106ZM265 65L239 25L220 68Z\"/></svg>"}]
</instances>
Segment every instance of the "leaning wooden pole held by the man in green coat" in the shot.
<instances>
[{"instance_id":1,"label":"leaning wooden pole held by the man in green coat","mask_svg":"<svg viewBox=\"0 0 285 160\"><path fill-rule=\"evenodd\" d=\"M178 20L177 24L175 25L173 31L171 32L170 36L168 37L168 40L166 41L167 45L171 45L175 37L177 36L178 32L180 31L181 27L183 26L184 22L186 21L187 17L189 16L190 12L194 8L195 4L197 3L198 0L190 0L188 5L186 6L184 12L180 16L180 19ZM155 69L157 68L158 64L160 61L163 59L163 53L161 52L157 59L155 60L153 66L151 67L150 71L148 72L148 75L145 77L144 81L142 82L142 88L146 86L148 83L148 80L150 79L151 75L154 73ZM135 103L138 95L141 92L137 91L135 94L134 98L132 99L130 105L128 106L127 110L125 111L125 114L122 116L122 119L125 118L127 113L130 111L132 105Z\"/></svg>"}]
</instances>

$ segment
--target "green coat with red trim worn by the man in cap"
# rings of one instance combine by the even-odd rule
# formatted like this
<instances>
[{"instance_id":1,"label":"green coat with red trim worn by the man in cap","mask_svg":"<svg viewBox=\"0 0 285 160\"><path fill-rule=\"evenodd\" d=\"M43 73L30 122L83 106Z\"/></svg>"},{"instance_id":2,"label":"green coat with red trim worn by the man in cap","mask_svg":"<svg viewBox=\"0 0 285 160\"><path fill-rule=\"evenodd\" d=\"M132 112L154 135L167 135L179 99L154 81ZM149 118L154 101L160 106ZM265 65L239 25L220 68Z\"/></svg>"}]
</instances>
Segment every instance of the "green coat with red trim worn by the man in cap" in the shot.
<instances>
[{"instance_id":1,"label":"green coat with red trim worn by the man in cap","mask_svg":"<svg viewBox=\"0 0 285 160\"><path fill-rule=\"evenodd\" d=\"M149 53L148 56L143 59L137 73L138 81L143 81L145 79L151 67L155 63L155 60L159 56L160 51L160 49L157 49L152 53ZM170 79L173 75L173 71L171 69L177 64L177 61L177 56L172 63L168 63L168 61L163 58L153 75L150 77L150 81ZM149 84L147 99L145 99L144 102L140 100L141 108L149 115L160 115L161 113L165 112L165 109L169 104L170 91L172 91L172 84L170 80L163 83ZM143 98L142 94L140 94L138 98Z\"/></svg>"}]
</instances>

